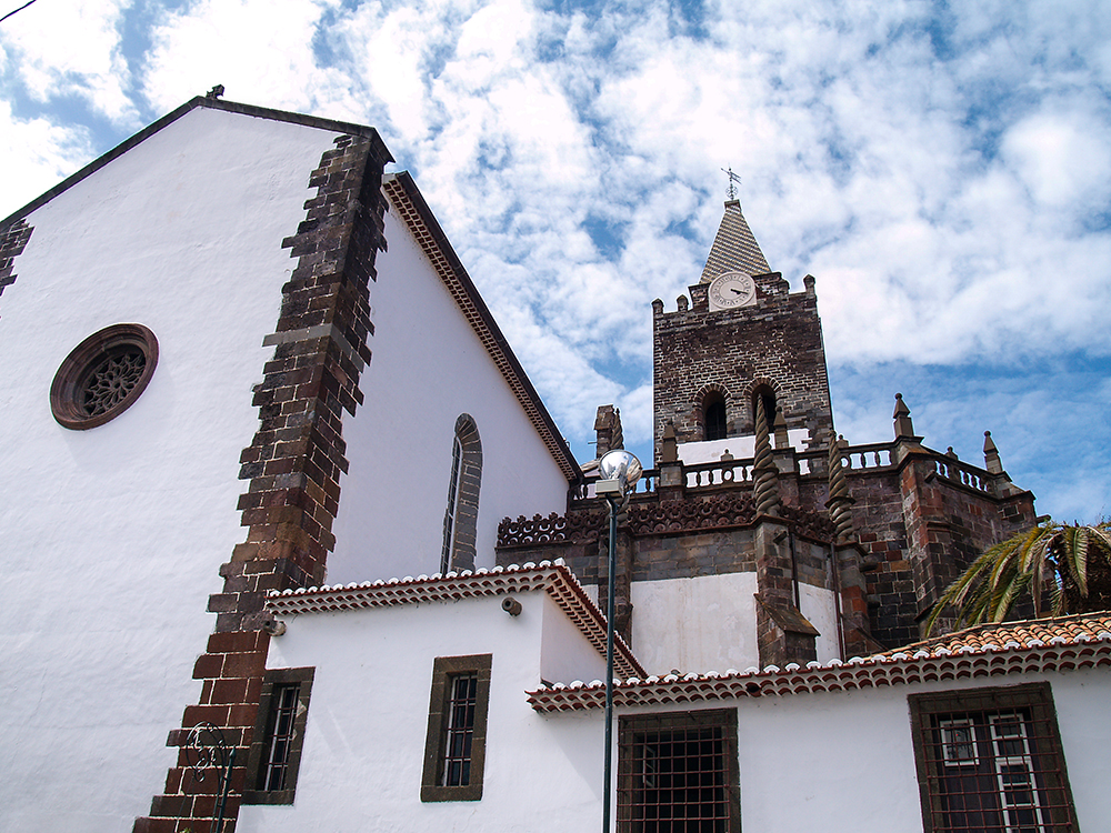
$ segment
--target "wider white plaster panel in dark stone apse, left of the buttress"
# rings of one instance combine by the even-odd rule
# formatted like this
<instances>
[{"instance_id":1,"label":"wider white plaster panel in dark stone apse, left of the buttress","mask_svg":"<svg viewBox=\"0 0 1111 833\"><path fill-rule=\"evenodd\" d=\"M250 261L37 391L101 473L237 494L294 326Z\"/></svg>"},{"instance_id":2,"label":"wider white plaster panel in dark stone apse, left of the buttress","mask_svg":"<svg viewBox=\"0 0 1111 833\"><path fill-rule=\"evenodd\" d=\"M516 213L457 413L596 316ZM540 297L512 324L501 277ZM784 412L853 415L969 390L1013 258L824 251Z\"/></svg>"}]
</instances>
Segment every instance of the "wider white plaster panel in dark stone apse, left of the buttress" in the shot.
<instances>
[{"instance_id":1,"label":"wider white plaster panel in dark stone apse, left of the buttress","mask_svg":"<svg viewBox=\"0 0 1111 833\"><path fill-rule=\"evenodd\" d=\"M759 665L755 592L755 573L632 582L637 659L649 674Z\"/></svg>"}]
</instances>

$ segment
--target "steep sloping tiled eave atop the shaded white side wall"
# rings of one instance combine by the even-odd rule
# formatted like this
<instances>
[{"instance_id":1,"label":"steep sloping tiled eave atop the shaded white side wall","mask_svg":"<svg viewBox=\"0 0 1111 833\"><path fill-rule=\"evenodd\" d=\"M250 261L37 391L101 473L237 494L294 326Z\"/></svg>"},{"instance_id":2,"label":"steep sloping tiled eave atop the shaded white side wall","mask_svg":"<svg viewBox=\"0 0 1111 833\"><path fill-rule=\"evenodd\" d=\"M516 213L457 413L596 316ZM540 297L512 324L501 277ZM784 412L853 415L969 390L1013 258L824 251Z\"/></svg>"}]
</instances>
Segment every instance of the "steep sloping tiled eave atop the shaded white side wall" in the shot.
<instances>
[{"instance_id":1,"label":"steep sloping tiled eave atop the shaded white side wall","mask_svg":"<svg viewBox=\"0 0 1111 833\"><path fill-rule=\"evenodd\" d=\"M579 482L582 479L582 472L571 453L571 449L563 440L563 435L556 426L556 421L548 413L540 394L532 387L532 382L524 372L524 368L517 360L517 355L506 337L502 335L501 329L493 315L490 314L482 295L476 289L474 282L452 249L447 234L440 228L440 223L417 188L412 175L408 171L388 173L382 179L382 189L401 219L409 225L417 243L436 269L437 274L440 275L443 285L451 293L482 345L490 353L490 358L498 365L498 370L509 383L510 390L513 391L537 433L544 441L560 471L563 472L569 483Z\"/></svg>"}]
</instances>

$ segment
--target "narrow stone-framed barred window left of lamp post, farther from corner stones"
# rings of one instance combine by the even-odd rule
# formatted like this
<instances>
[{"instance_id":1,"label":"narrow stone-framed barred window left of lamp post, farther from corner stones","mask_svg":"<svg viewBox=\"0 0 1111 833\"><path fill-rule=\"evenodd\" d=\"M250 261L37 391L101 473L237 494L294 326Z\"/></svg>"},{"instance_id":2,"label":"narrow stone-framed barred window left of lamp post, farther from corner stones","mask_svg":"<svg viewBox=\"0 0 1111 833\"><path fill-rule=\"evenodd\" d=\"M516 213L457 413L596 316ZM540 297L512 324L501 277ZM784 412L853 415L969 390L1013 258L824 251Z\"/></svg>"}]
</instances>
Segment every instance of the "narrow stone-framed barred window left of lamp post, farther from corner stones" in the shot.
<instances>
[{"instance_id":1,"label":"narrow stone-framed barred window left of lamp post, farther from corner stones","mask_svg":"<svg viewBox=\"0 0 1111 833\"><path fill-rule=\"evenodd\" d=\"M492 654L436 659L421 801L482 797L492 661Z\"/></svg>"}]
</instances>

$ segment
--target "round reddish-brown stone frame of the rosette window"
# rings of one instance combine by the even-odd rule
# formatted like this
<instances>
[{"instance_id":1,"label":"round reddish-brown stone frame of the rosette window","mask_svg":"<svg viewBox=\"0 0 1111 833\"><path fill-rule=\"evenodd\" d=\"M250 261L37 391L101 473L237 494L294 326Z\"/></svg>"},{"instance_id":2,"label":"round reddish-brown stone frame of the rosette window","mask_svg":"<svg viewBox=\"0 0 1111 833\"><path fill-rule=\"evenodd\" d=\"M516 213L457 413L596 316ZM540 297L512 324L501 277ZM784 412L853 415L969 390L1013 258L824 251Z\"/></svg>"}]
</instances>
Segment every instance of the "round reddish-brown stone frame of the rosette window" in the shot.
<instances>
[{"instance_id":1,"label":"round reddish-brown stone frame of the rosette window","mask_svg":"<svg viewBox=\"0 0 1111 833\"><path fill-rule=\"evenodd\" d=\"M89 377L104 359L121 348L139 348L144 358L142 374L127 395L107 411L93 415L84 410ZM66 357L50 385L50 410L60 425L86 431L103 425L133 405L154 375L158 365L158 339L142 324L112 324L93 333Z\"/></svg>"}]
</instances>

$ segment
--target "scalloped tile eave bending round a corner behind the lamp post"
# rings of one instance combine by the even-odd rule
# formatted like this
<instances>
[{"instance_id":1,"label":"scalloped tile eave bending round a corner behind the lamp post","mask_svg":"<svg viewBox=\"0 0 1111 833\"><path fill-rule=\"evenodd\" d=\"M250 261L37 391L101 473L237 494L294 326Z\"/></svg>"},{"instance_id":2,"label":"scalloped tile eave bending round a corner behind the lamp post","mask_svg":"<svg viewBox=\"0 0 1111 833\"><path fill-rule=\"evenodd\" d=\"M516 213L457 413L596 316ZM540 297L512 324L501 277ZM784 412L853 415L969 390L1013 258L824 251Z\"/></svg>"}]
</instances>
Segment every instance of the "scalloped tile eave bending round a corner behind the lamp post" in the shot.
<instances>
[{"instance_id":1,"label":"scalloped tile eave bending round a corner behind the lamp post","mask_svg":"<svg viewBox=\"0 0 1111 833\"><path fill-rule=\"evenodd\" d=\"M473 572L464 570L443 575L407 575L403 579L379 579L361 584L272 591L267 598L267 609L277 615L334 613L362 608L456 602L537 590L547 592L594 650L602 656L605 655L605 616L587 595L562 559L489 570L480 568ZM615 673L625 679L643 676L644 669L620 634L617 634L614 645Z\"/></svg>"}]
</instances>

